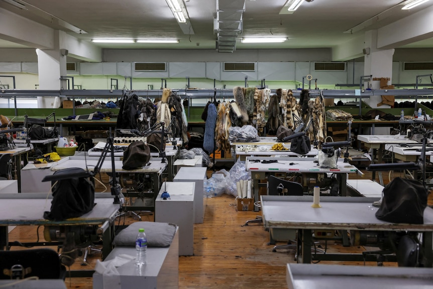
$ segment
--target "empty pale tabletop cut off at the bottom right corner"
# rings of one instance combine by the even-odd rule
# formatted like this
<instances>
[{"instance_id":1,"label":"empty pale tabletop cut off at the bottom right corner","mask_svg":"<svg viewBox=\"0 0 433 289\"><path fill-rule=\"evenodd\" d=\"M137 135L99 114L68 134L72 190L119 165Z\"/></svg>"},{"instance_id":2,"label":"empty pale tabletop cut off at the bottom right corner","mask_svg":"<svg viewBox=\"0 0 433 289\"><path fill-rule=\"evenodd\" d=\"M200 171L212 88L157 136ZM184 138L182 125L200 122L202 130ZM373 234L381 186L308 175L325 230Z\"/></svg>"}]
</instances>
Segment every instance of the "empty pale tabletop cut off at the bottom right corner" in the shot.
<instances>
[{"instance_id":1,"label":"empty pale tabletop cut off at the bottom right corner","mask_svg":"<svg viewBox=\"0 0 433 289\"><path fill-rule=\"evenodd\" d=\"M433 269L352 265L287 264L289 289L433 287Z\"/></svg>"}]
</instances>

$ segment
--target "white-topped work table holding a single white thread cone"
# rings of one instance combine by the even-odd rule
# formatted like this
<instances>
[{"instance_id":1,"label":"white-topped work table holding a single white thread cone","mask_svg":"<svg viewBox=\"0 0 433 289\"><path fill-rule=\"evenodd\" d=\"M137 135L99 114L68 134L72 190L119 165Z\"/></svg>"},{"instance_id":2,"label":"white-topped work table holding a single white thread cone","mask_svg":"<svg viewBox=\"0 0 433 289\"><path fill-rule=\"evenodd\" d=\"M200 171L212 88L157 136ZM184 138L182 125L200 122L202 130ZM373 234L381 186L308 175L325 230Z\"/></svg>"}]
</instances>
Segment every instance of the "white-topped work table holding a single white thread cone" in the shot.
<instances>
[{"instance_id":1,"label":"white-topped work table holding a single white thread cone","mask_svg":"<svg viewBox=\"0 0 433 289\"><path fill-rule=\"evenodd\" d=\"M433 209L424 210L424 224L395 224L378 220L378 208L372 203L377 198L321 197L321 208L312 208L312 196L261 196L262 217L265 228L297 229L301 236L299 263L312 260L343 260L341 254L314 254L312 256L312 230L366 230L422 232L425 266L433 265ZM351 254L351 260L362 261L362 254ZM345 259L348 260L348 259Z\"/></svg>"}]
</instances>

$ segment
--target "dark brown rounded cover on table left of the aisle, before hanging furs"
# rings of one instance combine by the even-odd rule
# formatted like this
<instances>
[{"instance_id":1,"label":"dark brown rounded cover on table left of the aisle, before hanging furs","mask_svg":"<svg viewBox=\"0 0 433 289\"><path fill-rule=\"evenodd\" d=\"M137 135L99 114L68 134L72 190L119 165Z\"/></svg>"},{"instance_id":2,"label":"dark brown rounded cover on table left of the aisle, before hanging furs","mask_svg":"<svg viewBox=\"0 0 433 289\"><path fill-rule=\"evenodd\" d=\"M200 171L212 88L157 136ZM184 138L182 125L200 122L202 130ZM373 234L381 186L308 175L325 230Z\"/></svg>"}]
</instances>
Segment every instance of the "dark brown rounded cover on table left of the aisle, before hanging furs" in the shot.
<instances>
[{"instance_id":1,"label":"dark brown rounded cover on table left of the aisle, before hanging furs","mask_svg":"<svg viewBox=\"0 0 433 289\"><path fill-rule=\"evenodd\" d=\"M123 169L141 168L150 160L150 148L143 141L130 144L123 152Z\"/></svg>"}]
</instances>

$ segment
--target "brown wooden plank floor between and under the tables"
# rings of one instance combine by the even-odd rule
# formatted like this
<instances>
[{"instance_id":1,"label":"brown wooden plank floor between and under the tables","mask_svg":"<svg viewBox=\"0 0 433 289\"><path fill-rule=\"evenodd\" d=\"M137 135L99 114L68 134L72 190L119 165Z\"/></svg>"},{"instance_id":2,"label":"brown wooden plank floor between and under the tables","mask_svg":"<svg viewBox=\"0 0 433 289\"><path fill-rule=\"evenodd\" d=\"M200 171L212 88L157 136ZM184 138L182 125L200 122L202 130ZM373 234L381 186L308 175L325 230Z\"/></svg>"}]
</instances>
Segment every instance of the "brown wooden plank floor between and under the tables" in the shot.
<instances>
[{"instance_id":1,"label":"brown wooden plank floor between and under the tables","mask_svg":"<svg viewBox=\"0 0 433 289\"><path fill-rule=\"evenodd\" d=\"M210 174L210 172L209 172ZM397 176L393 172L391 178ZM369 178L366 173L364 178ZM351 176L356 178L356 176ZM385 183L388 175L384 174ZM430 194L431 195L431 194ZM269 233L263 225L242 226L255 219L260 212L238 212L235 198L229 195L207 200L203 224L194 225L194 255L179 257L180 289L225 288L286 288L285 265L294 261L293 250L272 252L268 245ZM153 221L153 215L143 215L143 221ZM124 222L122 219L121 223ZM125 224L136 222L125 218ZM43 228L39 228L43 238ZM36 227L17 227L10 233L10 241L36 241ZM279 243L283 244L283 243ZM324 247L324 242L320 243ZM14 248L17 249L17 248ZM54 248L56 249L56 248ZM328 242L328 252L361 252L362 247L343 247L339 241ZM89 265L82 266L76 260L71 269L92 270L99 253L88 258ZM333 263L333 262L320 262ZM349 263L347 263L349 264ZM355 264L350 262L350 264ZM362 264L362 263L359 263ZM375 262L367 263L375 266ZM387 266L395 266L386 263ZM91 278L67 278L68 288L90 289Z\"/></svg>"}]
</instances>

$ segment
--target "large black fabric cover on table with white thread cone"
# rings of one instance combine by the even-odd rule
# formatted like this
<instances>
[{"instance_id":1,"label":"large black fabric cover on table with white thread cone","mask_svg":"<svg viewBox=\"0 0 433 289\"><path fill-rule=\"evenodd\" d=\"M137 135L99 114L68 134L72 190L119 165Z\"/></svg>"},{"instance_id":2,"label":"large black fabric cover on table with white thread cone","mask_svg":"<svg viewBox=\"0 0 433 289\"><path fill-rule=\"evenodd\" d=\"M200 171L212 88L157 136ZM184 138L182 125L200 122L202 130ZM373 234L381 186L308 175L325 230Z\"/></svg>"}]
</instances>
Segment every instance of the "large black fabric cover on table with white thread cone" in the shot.
<instances>
[{"instance_id":1,"label":"large black fabric cover on table with white thread cone","mask_svg":"<svg viewBox=\"0 0 433 289\"><path fill-rule=\"evenodd\" d=\"M383 189L376 218L391 223L423 224L427 190L418 180L396 177Z\"/></svg>"}]
</instances>

